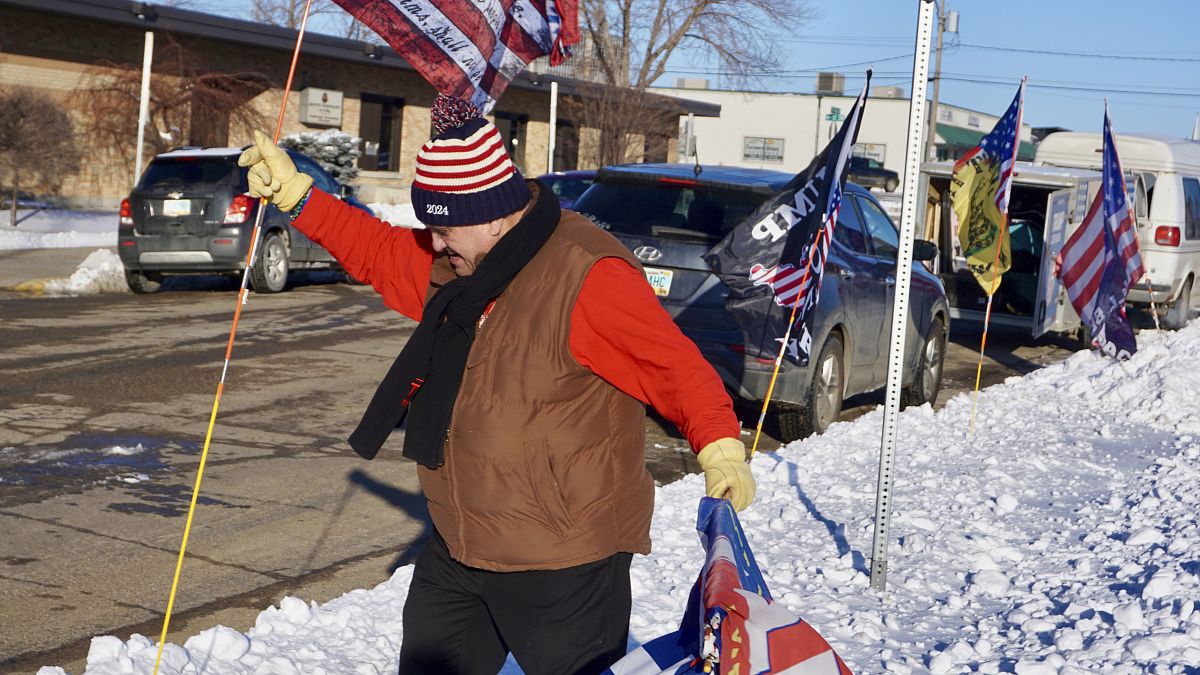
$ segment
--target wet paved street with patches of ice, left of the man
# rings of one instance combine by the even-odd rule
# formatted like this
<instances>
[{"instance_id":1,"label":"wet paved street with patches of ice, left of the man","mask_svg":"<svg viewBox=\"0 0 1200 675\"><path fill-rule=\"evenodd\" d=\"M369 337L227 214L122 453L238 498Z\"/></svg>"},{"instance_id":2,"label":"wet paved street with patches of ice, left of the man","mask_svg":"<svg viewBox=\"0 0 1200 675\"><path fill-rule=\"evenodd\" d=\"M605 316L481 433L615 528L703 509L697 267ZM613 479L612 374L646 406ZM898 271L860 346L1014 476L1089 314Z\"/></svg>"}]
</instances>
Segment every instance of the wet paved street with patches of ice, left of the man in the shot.
<instances>
[{"instance_id":1,"label":"wet paved street with patches of ice, left of the man","mask_svg":"<svg viewBox=\"0 0 1200 675\"><path fill-rule=\"evenodd\" d=\"M0 251L0 287L70 274L86 252ZM143 297L0 291L0 671L78 671L91 635L157 637L235 288L210 277ZM414 465L395 443L362 461L344 437L413 327L330 274L250 297L172 639L245 629L283 596L325 601L410 562L428 531ZM984 384L1069 346L997 334ZM973 386L977 350L971 327L952 330L938 404ZM882 400L852 399L842 419ZM739 411L744 425L756 416ZM670 426L647 418L660 483L696 471Z\"/></svg>"}]
</instances>

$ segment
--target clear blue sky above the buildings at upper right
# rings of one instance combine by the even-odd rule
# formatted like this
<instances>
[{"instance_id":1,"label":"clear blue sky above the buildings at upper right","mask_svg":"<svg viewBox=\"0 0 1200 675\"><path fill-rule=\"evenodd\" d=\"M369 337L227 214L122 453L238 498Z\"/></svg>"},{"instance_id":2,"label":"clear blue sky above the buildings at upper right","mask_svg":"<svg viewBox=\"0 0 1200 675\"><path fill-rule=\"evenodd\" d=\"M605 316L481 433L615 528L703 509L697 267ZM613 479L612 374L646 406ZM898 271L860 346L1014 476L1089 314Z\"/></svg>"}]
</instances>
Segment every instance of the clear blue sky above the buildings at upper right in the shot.
<instances>
[{"instance_id":1,"label":"clear blue sky above the buildings at upper right","mask_svg":"<svg viewBox=\"0 0 1200 675\"><path fill-rule=\"evenodd\" d=\"M810 92L814 76L799 71L872 60L872 85L910 89L918 0L811 0L811 5L820 16L799 29L796 37L779 43L780 67L794 76L764 79L760 89ZM1108 96L1117 133L1192 133L1200 112L1200 1L948 0L947 8L959 11L959 32L944 36L942 101L1001 114L1025 74L1030 82L1024 121L1033 126L1099 131ZM662 84L672 84L680 76L708 77L713 85L718 83L713 60L706 64L703 59L680 59L673 65L680 71L670 73ZM865 66L830 70L847 76L847 90L862 86ZM852 74L854 79L848 77Z\"/></svg>"}]
</instances>

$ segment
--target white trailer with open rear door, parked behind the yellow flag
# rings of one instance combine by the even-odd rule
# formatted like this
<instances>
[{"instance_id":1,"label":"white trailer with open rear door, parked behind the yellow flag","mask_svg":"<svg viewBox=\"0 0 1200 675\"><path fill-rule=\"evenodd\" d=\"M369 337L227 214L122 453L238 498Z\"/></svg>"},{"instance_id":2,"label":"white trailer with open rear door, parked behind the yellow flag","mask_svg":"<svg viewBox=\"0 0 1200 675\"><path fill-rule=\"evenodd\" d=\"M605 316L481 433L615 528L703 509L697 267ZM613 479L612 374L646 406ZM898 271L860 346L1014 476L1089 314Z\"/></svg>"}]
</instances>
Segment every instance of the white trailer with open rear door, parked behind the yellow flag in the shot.
<instances>
[{"instance_id":1,"label":"white trailer with open rear door, parked behind the yellow flag","mask_svg":"<svg viewBox=\"0 0 1200 675\"><path fill-rule=\"evenodd\" d=\"M946 286L950 316L983 322L988 295L966 267L950 208L953 162L922 165L925 203L923 239L936 241L934 273ZM991 323L1026 329L1034 338L1079 330L1079 316L1054 274L1054 261L1100 189L1100 173L1016 162L1009 197L1013 265L1004 273L991 307Z\"/></svg>"}]
</instances>

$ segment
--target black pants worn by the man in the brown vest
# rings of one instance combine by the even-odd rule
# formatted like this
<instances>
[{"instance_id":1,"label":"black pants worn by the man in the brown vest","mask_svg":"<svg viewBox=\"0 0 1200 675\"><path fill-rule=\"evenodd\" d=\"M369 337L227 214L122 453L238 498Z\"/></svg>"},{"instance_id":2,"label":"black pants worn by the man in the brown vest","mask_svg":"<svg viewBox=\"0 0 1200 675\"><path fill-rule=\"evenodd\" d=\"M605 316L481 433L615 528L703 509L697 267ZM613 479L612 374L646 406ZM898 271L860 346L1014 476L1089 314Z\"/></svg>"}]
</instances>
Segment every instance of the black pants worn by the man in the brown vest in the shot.
<instances>
[{"instance_id":1,"label":"black pants worn by the man in the brown vest","mask_svg":"<svg viewBox=\"0 0 1200 675\"><path fill-rule=\"evenodd\" d=\"M625 656L632 554L554 571L488 572L425 544L404 603L400 675L593 675Z\"/></svg>"}]
</instances>

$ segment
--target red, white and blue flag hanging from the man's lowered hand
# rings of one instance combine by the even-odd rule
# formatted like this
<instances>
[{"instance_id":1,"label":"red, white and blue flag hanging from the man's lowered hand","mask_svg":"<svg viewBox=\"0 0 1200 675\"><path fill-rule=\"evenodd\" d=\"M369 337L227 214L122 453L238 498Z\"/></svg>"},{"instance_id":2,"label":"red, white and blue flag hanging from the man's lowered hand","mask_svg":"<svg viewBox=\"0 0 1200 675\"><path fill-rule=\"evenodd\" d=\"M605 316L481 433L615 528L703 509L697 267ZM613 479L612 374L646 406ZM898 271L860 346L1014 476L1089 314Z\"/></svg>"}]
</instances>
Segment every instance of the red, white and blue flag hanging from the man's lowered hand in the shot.
<instances>
[{"instance_id":1,"label":"red, white and blue flag hanging from the man's lowered hand","mask_svg":"<svg viewBox=\"0 0 1200 675\"><path fill-rule=\"evenodd\" d=\"M679 629L635 649L606 675L851 675L803 619L774 604L728 500L703 497L704 567Z\"/></svg>"}]
</instances>

